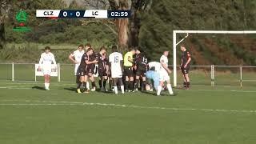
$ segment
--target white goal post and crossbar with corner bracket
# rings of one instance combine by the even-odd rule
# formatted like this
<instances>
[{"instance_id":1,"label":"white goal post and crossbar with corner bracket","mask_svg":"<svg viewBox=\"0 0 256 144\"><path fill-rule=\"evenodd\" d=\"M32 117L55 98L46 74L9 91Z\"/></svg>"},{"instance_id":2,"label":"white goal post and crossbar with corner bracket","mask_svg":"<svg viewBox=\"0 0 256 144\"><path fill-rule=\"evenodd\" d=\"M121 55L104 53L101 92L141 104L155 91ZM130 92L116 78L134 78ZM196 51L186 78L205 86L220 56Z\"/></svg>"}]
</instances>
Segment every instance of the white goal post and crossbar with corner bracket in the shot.
<instances>
[{"instance_id":1,"label":"white goal post and crossbar with corner bracket","mask_svg":"<svg viewBox=\"0 0 256 144\"><path fill-rule=\"evenodd\" d=\"M177 42L177 34L186 34L186 37ZM188 34L256 34L256 30L173 30L174 86L177 86L177 46L188 37Z\"/></svg>"}]
</instances>

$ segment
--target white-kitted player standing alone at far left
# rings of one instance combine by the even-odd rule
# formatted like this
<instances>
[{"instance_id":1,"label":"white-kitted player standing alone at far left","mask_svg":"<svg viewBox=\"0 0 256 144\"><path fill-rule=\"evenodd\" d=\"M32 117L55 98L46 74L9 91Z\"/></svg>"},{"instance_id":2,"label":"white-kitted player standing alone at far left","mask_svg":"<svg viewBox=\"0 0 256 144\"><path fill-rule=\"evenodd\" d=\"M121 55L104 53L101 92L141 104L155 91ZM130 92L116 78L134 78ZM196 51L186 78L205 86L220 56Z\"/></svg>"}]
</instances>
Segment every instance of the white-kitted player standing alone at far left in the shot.
<instances>
[{"instance_id":1,"label":"white-kitted player standing alone at far left","mask_svg":"<svg viewBox=\"0 0 256 144\"><path fill-rule=\"evenodd\" d=\"M54 67L51 64L54 63ZM45 88L46 90L50 90L50 73L51 69L57 68L56 61L54 58L54 54L50 52L50 47L46 46L45 52L41 54L41 58L39 60L39 69L42 69L42 73L45 77Z\"/></svg>"}]
</instances>

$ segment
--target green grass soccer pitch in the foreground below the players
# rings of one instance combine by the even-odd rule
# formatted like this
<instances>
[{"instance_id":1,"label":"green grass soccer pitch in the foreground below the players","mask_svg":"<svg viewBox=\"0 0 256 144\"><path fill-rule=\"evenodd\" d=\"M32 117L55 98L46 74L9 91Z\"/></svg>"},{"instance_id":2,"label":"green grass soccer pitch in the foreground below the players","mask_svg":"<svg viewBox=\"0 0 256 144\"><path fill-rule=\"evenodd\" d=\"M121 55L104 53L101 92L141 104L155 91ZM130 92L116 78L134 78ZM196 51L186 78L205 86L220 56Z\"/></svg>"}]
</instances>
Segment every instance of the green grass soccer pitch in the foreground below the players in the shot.
<instances>
[{"instance_id":1,"label":"green grass soccer pitch in the foreground below the players","mask_svg":"<svg viewBox=\"0 0 256 144\"><path fill-rule=\"evenodd\" d=\"M176 96L77 94L75 84L0 82L0 143L255 143L256 88L192 86Z\"/></svg>"}]
</instances>

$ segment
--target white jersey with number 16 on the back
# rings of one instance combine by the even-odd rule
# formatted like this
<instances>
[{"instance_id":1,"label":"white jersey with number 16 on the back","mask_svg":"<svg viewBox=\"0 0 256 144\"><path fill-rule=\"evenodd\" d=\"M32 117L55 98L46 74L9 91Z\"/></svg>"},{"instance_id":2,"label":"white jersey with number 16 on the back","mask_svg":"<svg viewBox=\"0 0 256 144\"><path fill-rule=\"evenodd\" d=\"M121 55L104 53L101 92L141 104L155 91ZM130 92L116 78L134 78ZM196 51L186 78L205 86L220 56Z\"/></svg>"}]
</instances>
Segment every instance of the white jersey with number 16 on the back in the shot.
<instances>
[{"instance_id":1,"label":"white jersey with number 16 on the back","mask_svg":"<svg viewBox=\"0 0 256 144\"><path fill-rule=\"evenodd\" d=\"M121 61L123 60L122 54L114 52L110 54L109 62L111 64L111 76L112 78L122 78Z\"/></svg>"}]
</instances>

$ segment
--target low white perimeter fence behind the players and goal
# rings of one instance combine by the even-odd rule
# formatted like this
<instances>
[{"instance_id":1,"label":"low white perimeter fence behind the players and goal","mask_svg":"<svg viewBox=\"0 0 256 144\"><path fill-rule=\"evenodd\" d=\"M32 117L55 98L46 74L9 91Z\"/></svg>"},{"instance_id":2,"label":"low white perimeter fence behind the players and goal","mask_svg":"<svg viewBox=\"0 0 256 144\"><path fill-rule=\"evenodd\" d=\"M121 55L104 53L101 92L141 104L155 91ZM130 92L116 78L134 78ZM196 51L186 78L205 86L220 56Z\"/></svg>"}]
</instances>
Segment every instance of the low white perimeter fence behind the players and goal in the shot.
<instances>
[{"instance_id":1,"label":"low white perimeter fence behind the players and goal","mask_svg":"<svg viewBox=\"0 0 256 144\"><path fill-rule=\"evenodd\" d=\"M34 66L35 63L0 63L0 81L43 81L35 75ZM58 68L58 77L52 77L52 81L74 82L73 64L58 64ZM178 86L182 81L178 68ZM190 66L190 81L192 85L256 86L256 66Z\"/></svg>"}]
</instances>

